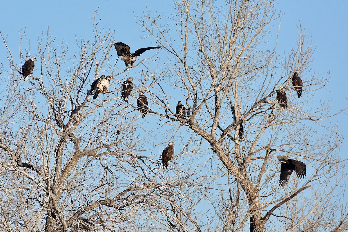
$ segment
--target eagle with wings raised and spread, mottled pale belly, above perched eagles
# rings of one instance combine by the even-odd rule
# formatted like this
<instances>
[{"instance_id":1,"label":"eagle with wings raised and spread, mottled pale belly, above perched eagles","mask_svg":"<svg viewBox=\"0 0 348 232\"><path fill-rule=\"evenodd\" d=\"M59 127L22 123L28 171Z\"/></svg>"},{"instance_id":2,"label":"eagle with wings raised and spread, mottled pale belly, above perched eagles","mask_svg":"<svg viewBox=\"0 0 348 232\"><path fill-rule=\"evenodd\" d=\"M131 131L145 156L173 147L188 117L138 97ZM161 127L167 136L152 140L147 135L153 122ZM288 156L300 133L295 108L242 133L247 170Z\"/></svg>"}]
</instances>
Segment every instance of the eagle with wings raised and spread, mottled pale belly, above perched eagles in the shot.
<instances>
[{"instance_id":1,"label":"eagle with wings raised and spread, mottled pale belly, above perched eagles","mask_svg":"<svg viewBox=\"0 0 348 232\"><path fill-rule=\"evenodd\" d=\"M125 43L118 42L118 43L114 43L113 46L115 46L117 55L121 56L121 60L126 63L126 67L128 67L128 65L133 66L133 63L136 61L136 57L143 54L144 51L155 49L155 48L163 48L162 46L139 48L134 53L129 53L129 46L126 45Z\"/></svg>"}]
</instances>

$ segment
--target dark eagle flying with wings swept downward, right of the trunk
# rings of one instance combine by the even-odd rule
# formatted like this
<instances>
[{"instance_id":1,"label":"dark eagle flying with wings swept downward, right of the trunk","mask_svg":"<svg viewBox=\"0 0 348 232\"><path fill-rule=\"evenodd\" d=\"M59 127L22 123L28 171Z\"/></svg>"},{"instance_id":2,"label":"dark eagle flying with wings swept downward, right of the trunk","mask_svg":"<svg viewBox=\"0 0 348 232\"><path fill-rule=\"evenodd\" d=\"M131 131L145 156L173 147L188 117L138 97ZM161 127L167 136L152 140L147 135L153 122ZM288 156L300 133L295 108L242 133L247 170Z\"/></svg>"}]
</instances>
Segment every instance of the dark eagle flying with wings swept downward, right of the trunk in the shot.
<instances>
[{"instance_id":1,"label":"dark eagle flying with wings swept downward, right of the trunk","mask_svg":"<svg viewBox=\"0 0 348 232\"><path fill-rule=\"evenodd\" d=\"M279 155L277 156L277 159L280 161L279 164L282 164L280 166L280 178L279 178L279 185L284 187L286 183L290 179L290 175L292 171L296 172L296 176L300 179L303 179L306 176L306 164L298 161L298 160L292 160L288 159L285 156Z\"/></svg>"}]
</instances>

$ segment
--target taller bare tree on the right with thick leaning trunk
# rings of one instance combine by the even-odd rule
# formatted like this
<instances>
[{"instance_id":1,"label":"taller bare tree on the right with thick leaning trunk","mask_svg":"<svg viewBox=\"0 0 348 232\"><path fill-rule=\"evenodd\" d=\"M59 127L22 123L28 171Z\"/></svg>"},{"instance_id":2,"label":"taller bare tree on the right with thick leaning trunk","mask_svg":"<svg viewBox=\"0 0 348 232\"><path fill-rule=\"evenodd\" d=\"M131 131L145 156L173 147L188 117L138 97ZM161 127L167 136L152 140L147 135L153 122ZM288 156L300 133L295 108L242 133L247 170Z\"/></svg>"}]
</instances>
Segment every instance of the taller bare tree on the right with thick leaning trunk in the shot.
<instances>
[{"instance_id":1,"label":"taller bare tree on the right with thick leaning trunk","mask_svg":"<svg viewBox=\"0 0 348 232\"><path fill-rule=\"evenodd\" d=\"M311 70L310 35L299 26L297 44L279 56L268 42L277 39L274 1L220 3L177 0L169 23L151 12L139 19L169 52L166 69L155 75L171 89L159 89L153 113L173 120L176 101L185 99L190 115L177 131L184 125L189 153L204 156L192 158L196 172L209 169L200 193L172 190L168 207L153 217L170 217L167 230L178 231L344 230L347 201L334 202L345 184L337 155L342 137L328 126L330 104L317 100L329 78ZM294 72L304 83L301 98L292 87ZM276 100L279 85L288 98L284 109ZM277 155L306 163L306 181L293 174L280 188Z\"/></svg>"}]
</instances>

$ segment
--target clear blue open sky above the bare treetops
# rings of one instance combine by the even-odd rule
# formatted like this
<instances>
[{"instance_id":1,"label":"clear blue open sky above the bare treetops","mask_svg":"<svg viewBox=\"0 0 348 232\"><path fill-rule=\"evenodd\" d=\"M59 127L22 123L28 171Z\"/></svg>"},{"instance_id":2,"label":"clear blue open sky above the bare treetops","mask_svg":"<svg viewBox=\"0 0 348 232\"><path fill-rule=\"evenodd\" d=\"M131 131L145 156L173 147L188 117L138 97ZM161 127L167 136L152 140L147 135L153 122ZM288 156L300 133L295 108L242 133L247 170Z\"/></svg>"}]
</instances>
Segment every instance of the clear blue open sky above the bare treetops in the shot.
<instances>
[{"instance_id":1,"label":"clear blue open sky above the bare treetops","mask_svg":"<svg viewBox=\"0 0 348 232\"><path fill-rule=\"evenodd\" d=\"M116 40L127 41L132 48L132 45L148 44L141 38L142 29L134 15L143 15L147 7L153 12L163 12L166 15L172 10L168 2L170 3L170 1L138 0L3 1L0 8L0 30L3 35L7 35L8 45L14 52L18 52L18 31L24 30L32 45L35 45L38 38L45 36L48 27L51 35L56 37L56 41L64 39L64 42L74 44L75 37L87 39L93 36L91 21L93 12L98 8L98 18L101 19L99 28L117 31ZM289 46L296 45L298 39L296 24L298 25L300 21L302 27L313 35L313 47L316 47L311 71L323 75L330 72L329 84L317 93L320 95L319 99L332 99L331 113L347 107L348 78L345 68L348 65L346 55L348 1L279 1L277 9L284 14L280 19L278 51L285 51ZM37 48L34 46L32 54L35 53ZM0 54L0 63L7 63L7 52L2 44ZM306 77L301 78L306 80ZM338 123L340 132L346 137L348 137L347 113L330 119L332 125ZM342 158L346 157L347 149L346 139L340 152Z\"/></svg>"}]
</instances>

